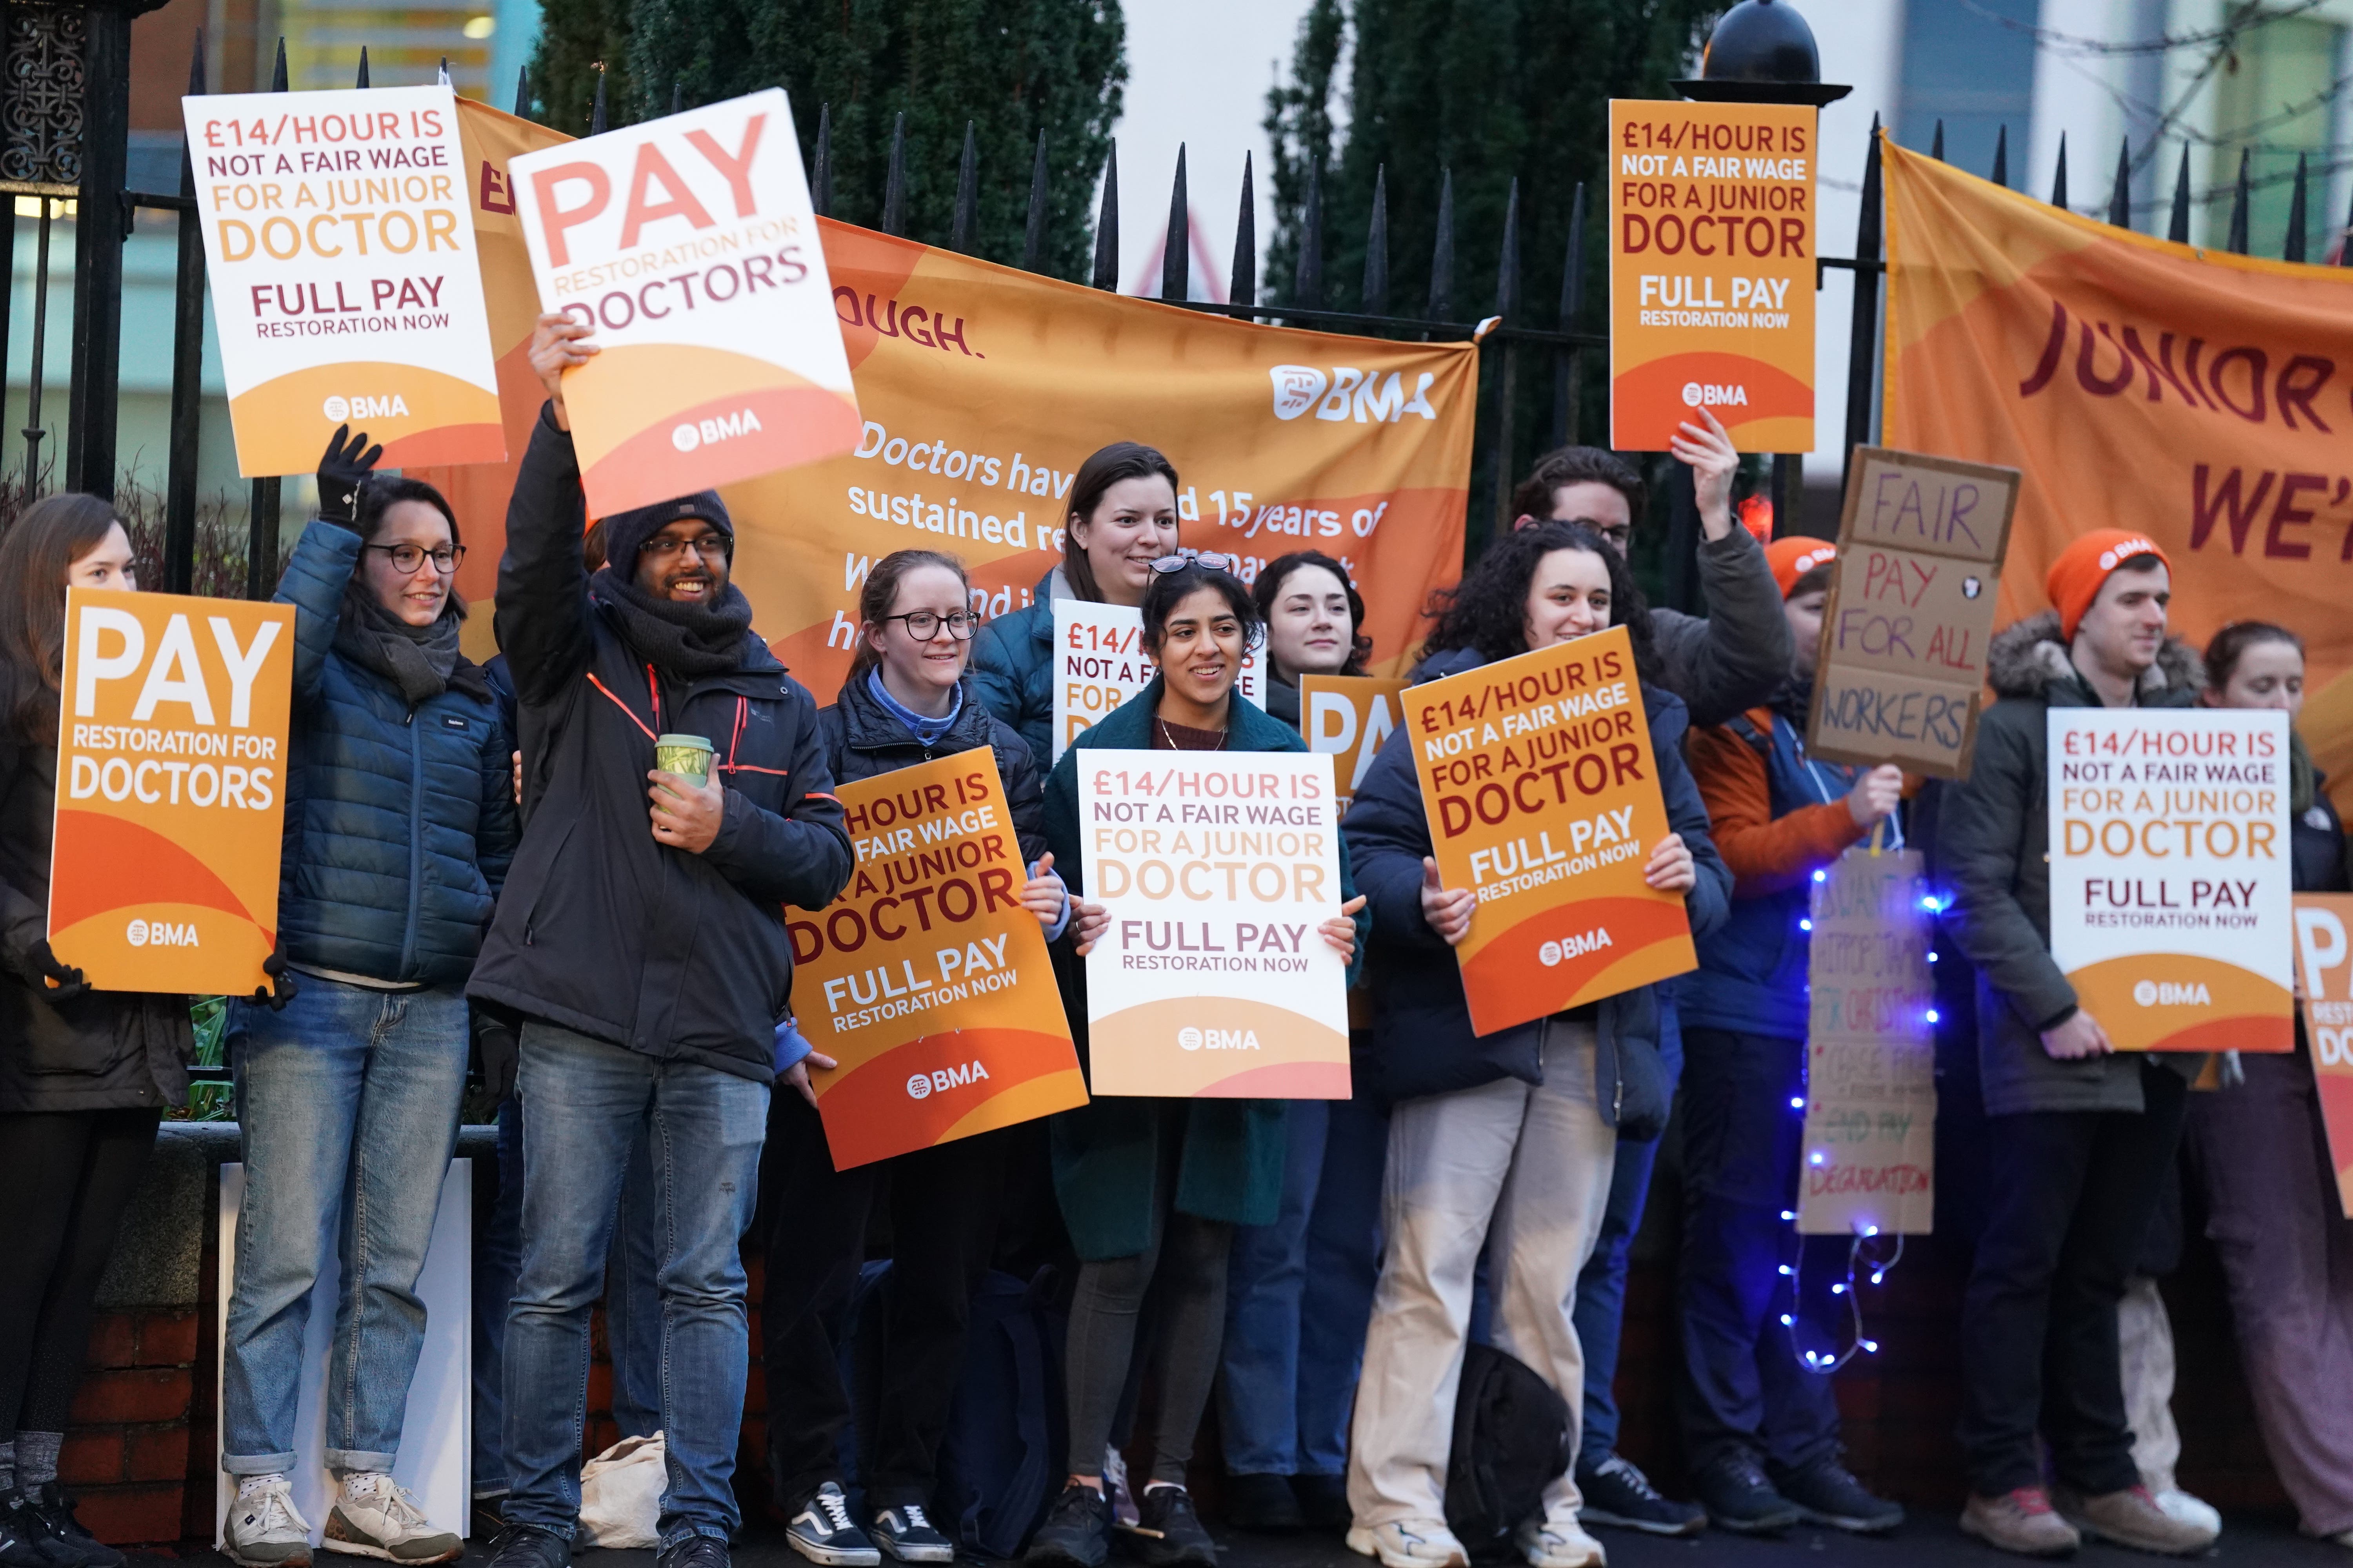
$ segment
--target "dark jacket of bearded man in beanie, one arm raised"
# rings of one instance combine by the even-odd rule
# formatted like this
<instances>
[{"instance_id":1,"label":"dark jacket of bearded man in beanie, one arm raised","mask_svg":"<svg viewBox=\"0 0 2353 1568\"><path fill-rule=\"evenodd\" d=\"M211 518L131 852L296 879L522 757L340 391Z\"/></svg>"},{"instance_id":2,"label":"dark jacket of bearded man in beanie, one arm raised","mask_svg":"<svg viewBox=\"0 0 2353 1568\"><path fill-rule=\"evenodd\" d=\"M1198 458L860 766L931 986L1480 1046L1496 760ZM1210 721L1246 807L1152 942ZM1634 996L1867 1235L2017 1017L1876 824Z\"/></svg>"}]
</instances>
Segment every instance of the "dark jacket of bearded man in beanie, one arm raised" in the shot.
<instances>
[{"instance_id":1,"label":"dark jacket of bearded man in beanie, one arm raised","mask_svg":"<svg viewBox=\"0 0 2353 1568\"><path fill-rule=\"evenodd\" d=\"M821 910L852 870L816 703L758 635L734 670L656 677L588 597L584 522L572 437L541 409L499 562L527 825L468 994L765 1084L793 992L781 905ZM727 806L699 856L649 827L661 731L718 748Z\"/></svg>"}]
</instances>

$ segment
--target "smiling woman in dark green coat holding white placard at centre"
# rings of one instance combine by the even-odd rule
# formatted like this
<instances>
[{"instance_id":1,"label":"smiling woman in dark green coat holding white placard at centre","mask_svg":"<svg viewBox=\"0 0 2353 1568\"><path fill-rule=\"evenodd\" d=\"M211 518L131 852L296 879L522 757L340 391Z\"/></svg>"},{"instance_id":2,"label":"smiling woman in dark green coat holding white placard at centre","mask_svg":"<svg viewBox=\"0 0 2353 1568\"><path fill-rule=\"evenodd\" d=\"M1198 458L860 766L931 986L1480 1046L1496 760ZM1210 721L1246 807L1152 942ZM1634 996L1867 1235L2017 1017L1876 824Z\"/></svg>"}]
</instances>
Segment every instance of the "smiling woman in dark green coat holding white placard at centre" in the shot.
<instances>
[{"instance_id":1,"label":"smiling woman in dark green coat holding white placard at centre","mask_svg":"<svg viewBox=\"0 0 2353 1568\"><path fill-rule=\"evenodd\" d=\"M1264 625L1226 557L1172 555L1146 571L1144 649L1160 675L1082 731L1047 780L1047 844L1066 872L1080 865L1078 750L1306 750L1289 726L1233 691ZM1339 877L1341 914L1320 933L1353 976L1367 919L1346 853ZM1106 922L1101 905L1080 905L1071 931L1080 954ZM1066 966L1066 976L1064 1009L1085 1051L1085 971ZM1134 1549L1151 1568L1212 1568L1217 1547L1184 1486L1186 1460L1217 1375L1233 1227L1273 1222L1282 1197L1282 1110L1268 1100L1104 1098L1054 1117L1052 1138L1054 1190L1082 1260L1066 1356L1071 1476L1028 1561L1099 1568L1111 1549L1101 1455L1136 1354L1136 1314L1153 1288L1162 1324L1144 1354L1160 1406Z\"/></svg>"}]
</instances>

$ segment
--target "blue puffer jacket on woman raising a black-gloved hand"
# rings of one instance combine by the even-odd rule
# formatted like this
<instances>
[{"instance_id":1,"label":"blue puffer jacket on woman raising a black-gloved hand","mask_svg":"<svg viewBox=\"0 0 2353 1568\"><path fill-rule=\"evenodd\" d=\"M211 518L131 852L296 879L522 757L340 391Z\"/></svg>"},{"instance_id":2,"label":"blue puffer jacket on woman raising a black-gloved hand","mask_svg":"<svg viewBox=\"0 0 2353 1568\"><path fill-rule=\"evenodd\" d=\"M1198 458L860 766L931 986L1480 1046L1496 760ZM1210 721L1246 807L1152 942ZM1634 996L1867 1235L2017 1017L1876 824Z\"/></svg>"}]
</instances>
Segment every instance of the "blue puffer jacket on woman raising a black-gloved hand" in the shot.
<instances>
[{"instance_id":1,"label":"blue puffer jacket on woman raising a black-gloved hand","mask_svg":"<svg viewBox=\"0 0 2353 1568\"><path fill-rule=\"evenodd\" d=\"M289 964L464 985L515 853L515 748L475 665L412 710L334 651L358 559L358 534L313 520L278 583L294 607L280 943Z\"/></svg>"}]
</instances>

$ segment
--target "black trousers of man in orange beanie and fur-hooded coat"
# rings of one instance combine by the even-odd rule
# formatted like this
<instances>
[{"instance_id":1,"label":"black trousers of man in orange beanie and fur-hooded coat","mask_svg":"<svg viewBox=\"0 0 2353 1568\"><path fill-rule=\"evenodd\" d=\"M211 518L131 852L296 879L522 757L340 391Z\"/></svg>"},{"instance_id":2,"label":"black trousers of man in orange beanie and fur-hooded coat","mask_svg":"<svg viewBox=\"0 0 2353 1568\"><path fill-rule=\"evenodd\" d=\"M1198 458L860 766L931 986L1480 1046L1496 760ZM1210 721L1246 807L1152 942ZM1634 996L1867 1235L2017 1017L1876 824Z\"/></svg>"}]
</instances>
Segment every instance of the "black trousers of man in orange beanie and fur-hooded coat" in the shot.
<instances>
[{"instance_id":1,"label":"black trousers of man in orange beanie and fur-hooded coat","mask_svg":"<svg viewBox=\"0 0 2353 1568\"><path fill-rule=\"evenodd\" d=\"M2064 1486L2139 1486L2118 1373L2115 1302L2181 1143L2188 1084L2141 1063L2141 1114L1991 1117L1986 1232L1960 1309L1969 1486L2042 1486L2035 1432Z\"/></svg>"}]
</instances>

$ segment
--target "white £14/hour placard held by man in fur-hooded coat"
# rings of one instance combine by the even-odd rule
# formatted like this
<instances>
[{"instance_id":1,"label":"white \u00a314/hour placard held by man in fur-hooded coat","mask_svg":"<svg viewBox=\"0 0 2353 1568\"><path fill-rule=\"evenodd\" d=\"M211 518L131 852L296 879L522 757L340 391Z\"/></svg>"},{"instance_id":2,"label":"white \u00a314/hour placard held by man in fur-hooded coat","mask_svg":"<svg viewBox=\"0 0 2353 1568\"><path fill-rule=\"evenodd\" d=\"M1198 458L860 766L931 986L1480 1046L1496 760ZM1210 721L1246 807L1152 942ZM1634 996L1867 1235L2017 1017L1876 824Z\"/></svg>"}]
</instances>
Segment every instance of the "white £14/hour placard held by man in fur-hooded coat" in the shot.
<instances>
[{"instance_id":1,"label":"white \u00a314/hour placard held by man in fur-hooded coat","mask_svg":"<svg viewBox=\"0 0 2353 1568\"><path fill-rule=\"evenodd\" d=\"M2118 1051L2294 1051L2287 715L2049 710L2052 959Z\"/></svg>"}]
</instances>

